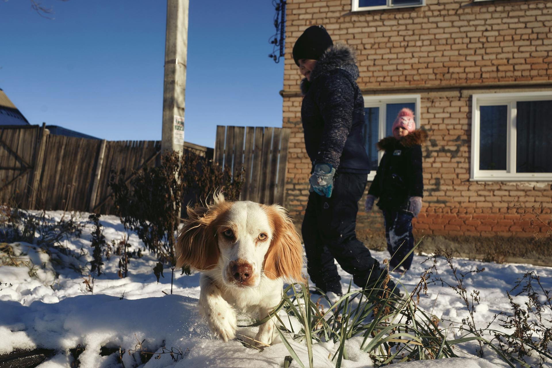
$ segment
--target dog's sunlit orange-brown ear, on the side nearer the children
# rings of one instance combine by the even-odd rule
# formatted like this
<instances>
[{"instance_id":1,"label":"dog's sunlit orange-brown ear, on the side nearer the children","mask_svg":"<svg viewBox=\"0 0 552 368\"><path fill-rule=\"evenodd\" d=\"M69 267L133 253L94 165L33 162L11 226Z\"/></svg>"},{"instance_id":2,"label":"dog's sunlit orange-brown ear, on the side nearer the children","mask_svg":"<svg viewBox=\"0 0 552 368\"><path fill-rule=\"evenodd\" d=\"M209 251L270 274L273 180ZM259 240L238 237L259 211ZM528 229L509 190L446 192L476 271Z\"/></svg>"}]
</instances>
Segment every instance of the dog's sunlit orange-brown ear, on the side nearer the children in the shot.
<instances>
[{"instance_id":1,"label":"dog's sunlit orange-brown ear, on the side nearer the children","mask_svg":"<svg viewBox=\"0 0 552 368\"><path fill-rule=\"evenodd\" d=\"M264 257L264 270L269 279L283 278L306 282L302 276L303 247L295 226L284 207L263 206L273 228L272 241Z\"/></svg>"}]
</instances>

